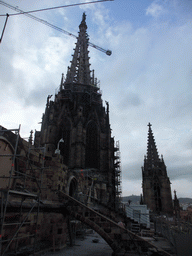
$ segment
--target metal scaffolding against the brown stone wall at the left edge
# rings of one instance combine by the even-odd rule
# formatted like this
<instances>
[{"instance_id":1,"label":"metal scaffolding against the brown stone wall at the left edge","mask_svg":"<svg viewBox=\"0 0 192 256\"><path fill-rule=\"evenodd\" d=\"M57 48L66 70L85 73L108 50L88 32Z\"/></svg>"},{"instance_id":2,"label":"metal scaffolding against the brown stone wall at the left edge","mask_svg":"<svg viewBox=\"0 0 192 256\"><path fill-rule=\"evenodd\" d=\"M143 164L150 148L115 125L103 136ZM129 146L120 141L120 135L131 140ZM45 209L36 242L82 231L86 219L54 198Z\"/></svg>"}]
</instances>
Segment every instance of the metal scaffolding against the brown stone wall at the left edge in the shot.
<instances>
[{"instance_id":1,"label":"metal scaffolding against the brown stone wall at the left edge","mask_svg":"<svg viewBox=\"0 0 192 256\"><path fill-rule=\"evenodd\" d=\"M20 125L18 129L0 127L0 142L0 255L19 253L26 241L30 241L28 248L34 254L45 149L39 149L42 160L39 166L34 165L30 156L37 148L20 138ZM28 148L21 154L18 145L22 142Z\"/></svg>"}]
</instances>

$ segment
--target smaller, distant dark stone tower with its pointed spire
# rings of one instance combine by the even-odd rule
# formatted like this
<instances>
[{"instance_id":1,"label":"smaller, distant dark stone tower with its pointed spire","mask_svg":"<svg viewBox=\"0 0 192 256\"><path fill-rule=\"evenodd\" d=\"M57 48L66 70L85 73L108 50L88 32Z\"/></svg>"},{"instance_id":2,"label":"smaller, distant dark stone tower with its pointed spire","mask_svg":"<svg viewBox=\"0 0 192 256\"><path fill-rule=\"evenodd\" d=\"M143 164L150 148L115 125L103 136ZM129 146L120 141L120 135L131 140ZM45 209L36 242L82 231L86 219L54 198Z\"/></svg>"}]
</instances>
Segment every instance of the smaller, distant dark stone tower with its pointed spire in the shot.
<instances>
[{"instance_id":1,"label":"smaller, distant dark stone tower with its pointed spire","mask_svg":"<svg viewBox=\"0 0 192 256\"><path fill-rule=\"evenodd\" d=\"M172 214L171 187L166 165L163 156L159 158L151 124L148 126L147 156L142 167L144 203L155 213Z\"/></svg>"}]
</instances>

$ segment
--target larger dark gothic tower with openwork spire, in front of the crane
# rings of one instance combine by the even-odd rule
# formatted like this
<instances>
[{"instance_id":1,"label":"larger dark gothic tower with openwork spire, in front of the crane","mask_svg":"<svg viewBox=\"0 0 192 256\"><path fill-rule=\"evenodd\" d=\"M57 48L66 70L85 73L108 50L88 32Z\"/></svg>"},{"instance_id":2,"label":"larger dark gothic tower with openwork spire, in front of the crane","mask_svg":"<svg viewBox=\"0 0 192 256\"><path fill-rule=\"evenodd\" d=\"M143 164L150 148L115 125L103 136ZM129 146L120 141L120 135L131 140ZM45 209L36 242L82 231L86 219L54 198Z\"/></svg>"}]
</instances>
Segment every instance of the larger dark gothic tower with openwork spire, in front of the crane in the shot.
<instances>
[{"instance_id":1,"label":"larger dark gothic tower with openwork spire, in front of the crane","mask_svg":"<svg viewBox=\"0 0 192 256\"><path fill-rule=\"evenodd\" d=\"M114 139L109 123L109 103L103 106L99 84L90 70L86 15L79 25L79 35L66 78L54 101L47 98L41 131L36 132L35 144L46 146L46 154L59 150L63 164L69 170L97 170L109 204L116 197L116 158ZM102 198L102 193L100 193Z\"/></svg>"}]
</instances>

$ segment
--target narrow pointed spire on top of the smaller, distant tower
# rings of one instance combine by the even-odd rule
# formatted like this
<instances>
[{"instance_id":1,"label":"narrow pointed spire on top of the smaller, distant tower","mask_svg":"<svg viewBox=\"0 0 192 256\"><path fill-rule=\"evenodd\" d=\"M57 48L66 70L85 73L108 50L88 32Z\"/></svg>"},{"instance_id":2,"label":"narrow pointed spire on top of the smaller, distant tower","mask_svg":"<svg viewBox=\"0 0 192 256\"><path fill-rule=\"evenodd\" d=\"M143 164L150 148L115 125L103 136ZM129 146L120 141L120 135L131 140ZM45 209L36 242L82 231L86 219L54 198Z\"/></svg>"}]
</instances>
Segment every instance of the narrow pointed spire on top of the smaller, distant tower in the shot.
<instances>
[{"instance_id":1,"label":"narrow pointed spire on top of the smaller, distant tower","mask_svg":"<svg viewBox=\"0 0 192 256\"><path fill-rule=\"evenodd\" d=\"M155 144L155 139L153 136L153 132L151 129L151 124L148 124L149 126L149 131L148 131L148 144L147 144L147 158L146 161L148 162L149 165L156 166L157 163L160 162L160 158L157 152L156 144Z\"/></svg>"}]
</instances>

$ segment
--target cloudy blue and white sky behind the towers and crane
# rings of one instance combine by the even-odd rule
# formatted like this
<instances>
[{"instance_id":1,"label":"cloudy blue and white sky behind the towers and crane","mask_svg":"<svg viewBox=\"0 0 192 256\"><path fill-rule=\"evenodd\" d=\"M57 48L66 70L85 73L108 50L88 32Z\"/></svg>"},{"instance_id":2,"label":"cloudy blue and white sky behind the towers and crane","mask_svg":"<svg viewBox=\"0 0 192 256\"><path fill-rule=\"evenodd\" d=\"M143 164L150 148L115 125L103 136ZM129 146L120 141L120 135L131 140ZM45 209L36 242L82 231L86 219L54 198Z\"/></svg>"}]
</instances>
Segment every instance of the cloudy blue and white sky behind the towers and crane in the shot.
<instances>
[{"instance_id":1,"label":"cloudy blue and white sky behind the towers and crane","mask_svg":"<svg viewBox=\"0 0 192 256\"><path fill-rule=\"evenodd\" d=\"M28 11L84 1L4 0ZM87 1L88 2L88 1ZM0 1L1 3L1 1ZM86 12L91 69L109 101L120 141L123 195L142 192L150 122L178 197L192 197L192 1L114 0L33 13L78 35ZM0 4L0 14L15 13ZM0 34L5 17L0 17ZM0 124L27 138L40 130L49 94L70 65L76 40L24 15L10 16L0 44Z\"/></svg>"}]
</instances>

